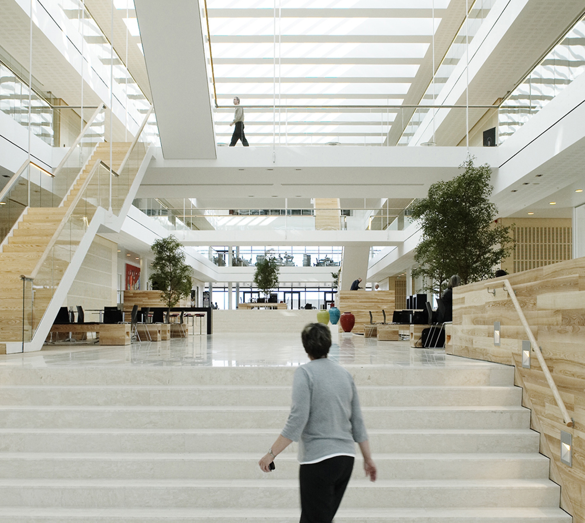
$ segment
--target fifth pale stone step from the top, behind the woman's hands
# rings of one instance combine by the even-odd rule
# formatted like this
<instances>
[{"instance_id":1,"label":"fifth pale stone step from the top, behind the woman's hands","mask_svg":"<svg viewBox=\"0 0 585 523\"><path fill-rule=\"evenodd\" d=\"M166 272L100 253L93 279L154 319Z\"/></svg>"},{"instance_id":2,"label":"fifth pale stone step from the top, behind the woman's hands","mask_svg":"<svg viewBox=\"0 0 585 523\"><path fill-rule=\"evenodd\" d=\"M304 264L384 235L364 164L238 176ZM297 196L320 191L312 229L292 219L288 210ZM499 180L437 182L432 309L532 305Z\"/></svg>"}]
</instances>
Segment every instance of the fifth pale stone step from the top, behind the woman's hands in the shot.
<instances>
[{"instance_id":1,"label":"fifth pale stone step from the top, behind the woman's hands","mask_svg":"<svg viewBox=\"0 0 585 523\"><path fill-rule=\"evenodd\" d=\"M258 453L245 452L5 452L0 478L16 479L297 479L297 456L278 456L277 469L264 474ZM385 479L538 479L548 475L549 460L538 453L376 453L378 474ZM356 457L353 477L363 479Z\"/></svg>"}]
</instances>

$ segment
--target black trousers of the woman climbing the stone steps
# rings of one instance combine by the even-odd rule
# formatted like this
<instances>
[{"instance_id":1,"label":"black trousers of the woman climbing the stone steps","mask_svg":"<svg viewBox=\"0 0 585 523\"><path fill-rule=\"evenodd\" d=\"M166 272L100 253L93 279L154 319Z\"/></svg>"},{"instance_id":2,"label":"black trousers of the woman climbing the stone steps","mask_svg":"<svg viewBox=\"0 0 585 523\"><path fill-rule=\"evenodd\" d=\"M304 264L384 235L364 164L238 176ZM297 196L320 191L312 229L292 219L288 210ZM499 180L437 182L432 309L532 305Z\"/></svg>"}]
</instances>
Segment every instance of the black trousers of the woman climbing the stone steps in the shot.
<instances>
[{"instance_id":1,"label":"black trousers of the woman climbing the stone steps","mask_svg":"<svg viewBox=\"0 0 585 523\"><path fill-rule=\"evenodd\" d=\"M301 465L300 523L331 523L353 470L352 456L330 457Z\"/></svg>"}]
</instances>

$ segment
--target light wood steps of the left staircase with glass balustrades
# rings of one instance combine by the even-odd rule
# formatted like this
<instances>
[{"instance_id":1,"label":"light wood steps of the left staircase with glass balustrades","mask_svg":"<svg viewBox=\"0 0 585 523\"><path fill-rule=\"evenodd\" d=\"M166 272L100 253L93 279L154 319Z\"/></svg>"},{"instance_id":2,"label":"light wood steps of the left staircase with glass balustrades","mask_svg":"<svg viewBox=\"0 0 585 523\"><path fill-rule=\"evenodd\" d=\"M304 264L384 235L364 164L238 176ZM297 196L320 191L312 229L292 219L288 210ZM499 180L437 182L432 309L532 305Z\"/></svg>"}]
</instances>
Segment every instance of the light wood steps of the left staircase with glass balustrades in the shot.
<instances>
[{"instance_id":1,"label":"light wood steps of the left staircase with glass balustrades","mask_svg":"<svg viewBox=\"0 0 585 523\"><path fill-rule=\"evenodd\" d=\"M122 164L126 153L132 143L130 142L116 142L113 143L112 150L112 170L118 171ZM136 153L136 154L135 154ZM146 147L142 143L137 143L132 158L126 163L125 171L128 171L130 180L128 188L132 183L133 177L136 176L140 164L144 159ZM11 232L9 233L8 242L1 247L0 252L0 266L2 271L0 273L0 285L3 293L0 295L0 342L14 342L22 340L22 305L23 305L23 282L20 275L29 275L35 269L39 260L49 244L53 235L59 228L61 222L65 218L71 202L74 201L82 185L87 180L92 167L96 161L102 160L107 166L110 162L109 143L100 143L88 161L85 168L82 170L77 180L71 185L66 198L64 198L61 207L29 207L26 208L22 216L22 220L17 222ZM88 194L93 194L92 185L97 185L97 176L94 176L88 184ZM112 199L125 199L128 195L128 190L112 191ZM89 201L88 201L89 203ZM95 211L95 205L91 204ZM119 205L118 208L120 208ZM84 231L80 229L79 235L82 236ZM81 239L81 238L79 238ZM58 252L60 242L57 240L56 252ZM68 242L67 242L68 243ZM66 245L63 245L66 249ZM44 311L49 306L54 290L63 278L63 274L67 270L69 264L68 259L53 259L53 282L50 288L35 288L35 323L40 321L39 311ZM30 311L27 311L25 317L25 328L30 324ZM26 313L25 313L26 314ZM4 349L5 350L5 349ZM0 345L0 353L2 352L2 345Z\"/></svg>"}]
</instances>

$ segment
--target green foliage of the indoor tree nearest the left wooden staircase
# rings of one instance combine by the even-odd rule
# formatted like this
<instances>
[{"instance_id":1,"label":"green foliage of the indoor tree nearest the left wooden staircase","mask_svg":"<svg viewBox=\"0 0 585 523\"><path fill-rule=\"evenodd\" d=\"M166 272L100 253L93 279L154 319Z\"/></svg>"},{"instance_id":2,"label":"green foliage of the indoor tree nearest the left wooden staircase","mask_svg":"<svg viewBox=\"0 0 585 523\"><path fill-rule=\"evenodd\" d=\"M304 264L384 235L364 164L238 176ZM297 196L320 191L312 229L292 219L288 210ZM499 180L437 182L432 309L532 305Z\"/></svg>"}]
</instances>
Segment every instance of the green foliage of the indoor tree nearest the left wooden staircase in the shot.
<instances>
[{"instance_id":1,"label":"green foliage of the indoor tree nearest the left wooden staircase","mask_svg":"<svg viewBox=\"0 0 585 523\"><path fill-rule=\"evenodd\" d=\"M185 263L181 243L173 235L156 240L151 249L154 262L150 265L152 273L149 279L153 290L161 291L163 302L167 305L168 318L171 307L190 295L193 270Z\"/></svg>"}]
</instances>

